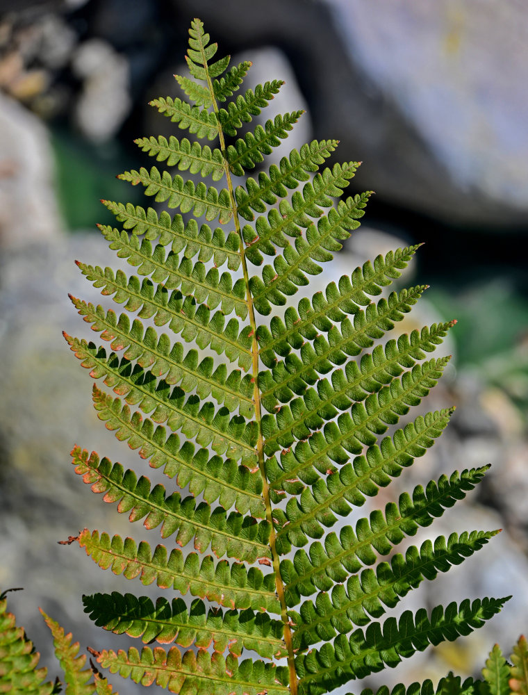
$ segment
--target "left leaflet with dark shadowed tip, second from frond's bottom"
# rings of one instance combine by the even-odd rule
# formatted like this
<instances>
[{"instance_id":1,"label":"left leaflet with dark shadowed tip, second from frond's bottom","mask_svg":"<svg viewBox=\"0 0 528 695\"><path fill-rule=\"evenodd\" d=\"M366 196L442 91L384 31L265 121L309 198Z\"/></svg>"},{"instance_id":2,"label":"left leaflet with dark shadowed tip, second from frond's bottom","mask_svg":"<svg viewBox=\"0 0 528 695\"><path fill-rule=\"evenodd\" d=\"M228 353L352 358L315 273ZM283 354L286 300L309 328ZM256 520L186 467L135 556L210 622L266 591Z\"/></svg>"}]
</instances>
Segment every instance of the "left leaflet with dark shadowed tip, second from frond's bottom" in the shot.
<instances>
[{"instance_id":1,"label":"left leaflet with dark shadowed tip, second from frond's bottom","mask_svg":"<svg viewBox=\"0 0 528 695\"><path fill-rule=\"evenodd\" d=\"M236 611L206 609L200 598L190 607L182 598L156 599L133 594L94 594L83 596L85 613L94 623L117 635L141 637L145 644L175 642L182 647L213 646L213 651L240 656L242 648L253 649L267 659L286 656L282 637L282 621L271 619L267 613L252 610Z\"/></svg>"}]
</instances>

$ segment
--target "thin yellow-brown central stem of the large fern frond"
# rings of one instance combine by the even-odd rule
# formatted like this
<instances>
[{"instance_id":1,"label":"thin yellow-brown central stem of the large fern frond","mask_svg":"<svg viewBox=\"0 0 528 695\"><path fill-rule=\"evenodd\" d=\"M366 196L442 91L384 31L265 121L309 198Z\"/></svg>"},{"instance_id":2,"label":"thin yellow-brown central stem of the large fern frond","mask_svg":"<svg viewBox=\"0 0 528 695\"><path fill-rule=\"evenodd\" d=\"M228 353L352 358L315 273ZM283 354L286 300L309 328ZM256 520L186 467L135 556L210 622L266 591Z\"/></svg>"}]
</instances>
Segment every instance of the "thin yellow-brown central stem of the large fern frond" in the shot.
<instances>
[{"instance_id":1,"label":"thin yellow-brown central stem of the large fern frond","mask_svg":"<svg viewBox=\"0 0 528 695\"><path fill-rule=\"evenodd\" d=\"M265 463L264 463L264 439L262 434L262 412L261 412L261 393L258 389L258 343L256 339L256 319L253 300L251 298L251 291L249 289L249 273L247 271L247 261L244 250L244 239L242 237L242 230L240 229L240 220L238 218L238 210L235 199L235 193L233 190L233 180L231 179L231 171L229 170L229 161L227 158L226 143L224 139L224 132L222 130L222 124L220 123L218 105L215 97L215 92L213 90L213 83L211 82L211 76L207 69L207 58L204 51L204 46L200 41L200 50L202 55L202 60L204 62L204 69L207 78L207 85L209 91L211 92L213 111L216 116L217 126L218 126L218 140L220 144L220 150L224 158L224 170L226 173L227 190L229 192L229 199L231 200L231 208L233 210L233 222L235 224L235 230L240 238L240 260L242 261L242 272L244 275L244 281L246 286L246 296L247 296L247 308L249 311L249 323L251 325L251 330L253 332L252 339L252 371L253 371L253 382L254 382L254 406L255 406L255 420L258 426L258 440L257 440L257 454L258 454L258 468L261 471L262 481L263 481L263 498L266 506L266 518L268 523L270 523L270 549L272 551L272 562L273 571L275 574L275 586L277 587L277 596L279 596L279 601L281 603L281 619L284 626L284 642L288 650L288 671L290 674L290 693L291 695L297 695L297 673L295 671L295 655L293 653L293 640L292 640L292 630L290 628L290 621L288 619L288 609L286 607L286 596L284 595L284 585L281 579L280 572L280 561L279 554L277 553L277 547L275 543L275 530L272 518L272 505L270 500L270 489L267 483L267 477L265 473Z\"/></svg>"}]
</instances>

